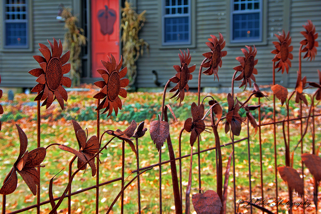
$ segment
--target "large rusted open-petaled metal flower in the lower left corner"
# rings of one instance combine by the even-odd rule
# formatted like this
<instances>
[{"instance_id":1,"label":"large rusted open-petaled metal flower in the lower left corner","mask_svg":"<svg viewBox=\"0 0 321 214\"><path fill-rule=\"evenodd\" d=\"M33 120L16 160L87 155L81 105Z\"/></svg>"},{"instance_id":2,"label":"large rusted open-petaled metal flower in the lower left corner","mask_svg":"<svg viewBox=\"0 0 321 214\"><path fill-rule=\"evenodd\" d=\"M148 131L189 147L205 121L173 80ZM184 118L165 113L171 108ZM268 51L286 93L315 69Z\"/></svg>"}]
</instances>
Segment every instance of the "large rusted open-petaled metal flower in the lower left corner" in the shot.
<instances>
[{"instance_id":1,"label":"large rusted open-petaled metal flower in the lower left corner","mask_svg":"<svg viewBox=\"0 0 321 214\"><path fill-rule=\"evenodd\" d=\"M33 195L37 194L37 187L40 183L40 176L35 167L37 167L46 157L46 149L43 147L36 148L30 152L26 151L28 139L23 130L16 124L20 140L19 156L14 162L9 174L4 178L3 186L0 189L0 194L8 195L13 193L18 184L16 172L21 175L26 182Z\"/></svg>"}]
</instances>

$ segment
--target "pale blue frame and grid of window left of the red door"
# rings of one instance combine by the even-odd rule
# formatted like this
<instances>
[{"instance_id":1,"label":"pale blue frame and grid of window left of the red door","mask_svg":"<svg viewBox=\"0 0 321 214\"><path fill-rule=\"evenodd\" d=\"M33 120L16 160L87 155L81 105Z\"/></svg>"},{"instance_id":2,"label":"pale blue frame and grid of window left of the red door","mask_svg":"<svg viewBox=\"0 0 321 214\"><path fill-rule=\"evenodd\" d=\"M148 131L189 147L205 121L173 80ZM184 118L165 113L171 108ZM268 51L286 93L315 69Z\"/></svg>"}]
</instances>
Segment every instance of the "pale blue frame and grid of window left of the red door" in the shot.
<instances>
[{"instance_id":1,"label":"pale blue frame and grid of window left of the red door","mask_svg":"<svg viewBox=\"0 0 321 214\"><path fill-rule=\"evenodd\" d=\"M28 1L26 0L24 4L18 4L17 0L12 0L14 3L13 4L6 4L6 0L3 1L3 20L4 20L4 26L3 26L3 41L4 41L4 48L6 49L26 49L29 48L29 27L28 27ZM25 11L16 11L13 12L11 11L11 7L15 6L16 8L18 7L17 5L19 5L19 7L21 6L25 6ZM7 12L7 7L10 8L10 11ZM20 15L25 14L25 19L7 19L7 14L11 14L14 17L18 16L18 13ZM6 24L7 23L25 23L26 24L26 45L7 45L6 44Z\"/></svg>"}]
</instances>

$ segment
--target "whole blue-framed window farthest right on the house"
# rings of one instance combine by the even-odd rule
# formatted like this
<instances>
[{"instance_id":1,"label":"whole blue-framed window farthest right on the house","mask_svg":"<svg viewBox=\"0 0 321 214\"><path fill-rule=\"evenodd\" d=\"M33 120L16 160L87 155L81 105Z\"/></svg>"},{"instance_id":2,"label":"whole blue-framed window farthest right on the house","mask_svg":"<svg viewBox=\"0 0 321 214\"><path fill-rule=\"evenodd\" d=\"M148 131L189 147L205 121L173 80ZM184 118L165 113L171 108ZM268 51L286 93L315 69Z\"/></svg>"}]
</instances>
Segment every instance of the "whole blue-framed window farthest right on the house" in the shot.
<instances>
[{"instance_id":1,"label":"whole blue-framed window farthest right on the house","mask_svg":"<svg viewBox=\"0 0 321 214\"><path fill-rule=\"evenodd\" d=\"M232 0L231 42L262 41L262 0Z\"/></svg>"}]
</instances>

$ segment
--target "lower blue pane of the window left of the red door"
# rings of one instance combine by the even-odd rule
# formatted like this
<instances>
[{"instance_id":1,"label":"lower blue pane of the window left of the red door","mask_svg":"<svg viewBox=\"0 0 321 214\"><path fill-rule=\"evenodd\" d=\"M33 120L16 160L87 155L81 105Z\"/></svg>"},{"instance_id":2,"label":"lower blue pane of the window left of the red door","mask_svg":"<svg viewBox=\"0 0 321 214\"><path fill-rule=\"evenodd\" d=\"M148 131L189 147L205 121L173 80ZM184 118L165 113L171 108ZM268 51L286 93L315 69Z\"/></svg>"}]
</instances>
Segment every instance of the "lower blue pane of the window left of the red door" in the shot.
<instances>
[{"instance_id":1,"label":"lower blue pane of the window left of the red door","mask_svg":"<svg viewBox=\"0 0 321 214\"><path fill-rule=\"evenodd\" d=\"M6 23L5 24L5 44L10 46L27 45L27 24L26 23Z\"/></svg>"}]
</instances>

